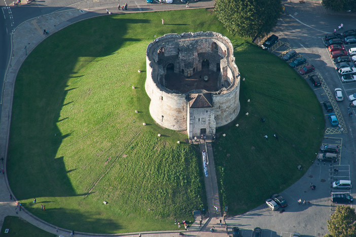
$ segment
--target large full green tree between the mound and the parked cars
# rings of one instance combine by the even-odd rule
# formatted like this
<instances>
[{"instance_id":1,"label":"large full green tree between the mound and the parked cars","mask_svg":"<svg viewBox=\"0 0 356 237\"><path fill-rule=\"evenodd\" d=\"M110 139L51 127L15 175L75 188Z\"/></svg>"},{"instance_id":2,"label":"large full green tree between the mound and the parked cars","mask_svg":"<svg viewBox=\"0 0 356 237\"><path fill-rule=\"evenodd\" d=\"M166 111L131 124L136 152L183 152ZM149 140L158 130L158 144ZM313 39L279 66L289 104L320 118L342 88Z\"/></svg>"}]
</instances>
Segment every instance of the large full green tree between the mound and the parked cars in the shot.
<instances>
[{"instance_id":1,"label":"large full green tree between the mound and the parked cars","mask_svg":"<svg viewBox=\"0 0 356 237\"><path fill-rule=\"evenodd\" d=\"M282 5L280 0L217 0L215 12L232 35L261 37L277 24Z\"/></svg>"}]
</instances>

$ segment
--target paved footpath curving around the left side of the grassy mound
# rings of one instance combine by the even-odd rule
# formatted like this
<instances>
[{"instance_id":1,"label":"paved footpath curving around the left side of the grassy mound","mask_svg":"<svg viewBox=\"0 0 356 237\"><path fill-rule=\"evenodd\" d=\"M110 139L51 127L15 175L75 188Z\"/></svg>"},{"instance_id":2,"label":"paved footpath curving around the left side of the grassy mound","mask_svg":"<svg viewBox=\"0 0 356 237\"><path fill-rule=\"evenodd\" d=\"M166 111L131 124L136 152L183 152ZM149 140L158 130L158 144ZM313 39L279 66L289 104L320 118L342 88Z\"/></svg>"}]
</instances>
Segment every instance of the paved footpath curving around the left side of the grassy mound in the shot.
<instances>
[{"instance_id":1,"label":"paved footpath curving around the left side of the grassy mound","mask_svg":"<svg viewBox=\"0 0 356 237\"><path fill-rule=\"evenodd\" d=\"M29 4L31 2L28 2ZM198 2L192 3L190 9L194 8L206 8L212 7L213 2ZM74 6L75 5L75 6ZM117 10L117 2L114 1L101 1L90 3L90 11L88 12L88 5L85 2L74 4L72 7L63 8L61 11L56 11L55 13L43 15L25 21L19 24L13 32L12 35L12 45L11 52L12 57L9 62L8 70L6 72L6 77L4 81L4 91L2 97L3 111L0 122L0 153L2 157L7 157L7 143L10 131L10 121L11 121L11 111L12 111L12 100L13 91L15 85L15 79L17 73L27 57L27 55L44 39L48 36L43 35L43 29L46 29L51 33L54 33L70 24L78 22L83 19L105 15L106 8L112 11L113 14L127 14L133 12L143 12L146 11L164 11L164 10L175 10L175 9L185 9L185 5L167 5L167 4L153 4L149 7L145 6L135 6L135 8L129 8L128 11L124 13ZM20 6L21 7L21 6ZM84 9L86 8L86 9ZM80 11L82 10L82 11ZM6 167L6 159L4 164L0 167ZM58 228L52 224L49 224L27 212L24 208L21 211L16 209L15 197L10 199L10 194L13 195L9 188L9 183L5 175L0 175L0 224L4 223L4 218L6 216L19 216L26 220L27 222L43 229L48 232L57 234L59 236L69 236L71 230L66 230ZM200 218L199 218L200 219ZM203 227L199 227L199 222L196 221L192 224L189 232L186 232L187 236L226 236L225 227L220 227L218 224L219 220L216 218L206 219L203 222ZM210 227L215 226L215 232L210 232ZM58 232L57 232L58 231ZM123 233L123 234L91 234L91 233L80 233L75 232L75 236L138 236L138 233ZM178 232L170 231L160 231L160 232L141 232L142 236L179 236Z\"/></svg>"}]
</instances>

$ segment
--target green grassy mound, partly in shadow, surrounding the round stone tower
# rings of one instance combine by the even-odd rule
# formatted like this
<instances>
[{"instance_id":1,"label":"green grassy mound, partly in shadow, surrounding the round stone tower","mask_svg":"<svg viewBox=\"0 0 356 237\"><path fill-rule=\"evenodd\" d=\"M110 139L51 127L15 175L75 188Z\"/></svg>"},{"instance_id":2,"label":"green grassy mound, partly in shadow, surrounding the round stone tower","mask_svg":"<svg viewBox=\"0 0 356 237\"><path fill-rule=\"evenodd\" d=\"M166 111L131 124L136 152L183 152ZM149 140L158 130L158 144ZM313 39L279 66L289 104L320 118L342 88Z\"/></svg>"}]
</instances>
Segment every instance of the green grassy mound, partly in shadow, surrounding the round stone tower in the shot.
<instances>
[{"instance_id":1,"label":"green grassy mound, partly in shadow, surrounding the round stone tower","mask_svg":"<svg viewBox=\"0 0 356 237\"><path fill-rule=\"evenodd\" d=\"M50 36L30 53L17 76L7 170L11 188L26 209L60 227L114 233L177 229L174 218L192 220L191 211L206 208L197 150L188 144L176 144L178 140L185 141L185 134L155 125L144 87L147 45L165 33L201 30L223 33L237 50L237 64L248 78L241 82L240 113L249 111L258 120L260 114L266 115L269 110L264 125L273 130L278 124L280 144L282 137L289 141L282 152L276 152L275 147L264 145L265 141L256 142L260 139L256 133L265 132L256 125L244 130L245 145L238 143L239 148L251 148L254 144L253 154L271 154L270 159L288 163L281 171L289 178L288 184L300 176L298 173L290 177L293 172L288 170L295 169L294 163L289 164L292 159L305 159L292 146L304 137L306 142L317 140L321 133L315 133L314 128L308 130L314 124L308 118L303 126L297 126L302 121L289 126L295 119L288 117L295 115L289 111L307 116L310 111L319 113L321 109L315 107L317 101L312 91L299 77L295 81L288 79L294 83L290 85L295 88L294 95L279 87L278 83L286 83L286 77L296 77L293 70L246 40L230 36L211 11L108 15L76 23ZM262 69L267 60L270 65L275 62L275 67L282 66L283 74L273 75L273 69L266 76ZM249 64L253 66L248 67ZM143 72L137 73L138 69ZM266 84L276 83L270 81L273 77L279 80L275 90L266 91ZM287 96L297 100L295 106L288 104L290 100L283 100ZM243 102L247 97L252 99L251 104ZM259 98L273 101L262 107ZM308 103L304 103L306 100ZM286 108L290 109L284 111ZM321 124L322 118L319 113L315 122ZM246 127L254 123L253 119L238 119ZM143 126L143 122L148 125ZM244 158L233 147L235 141L239 142L241 131L233 130L231 136L226 132L229 142L218 142L218 149L226 155L216 155L221 187L225 190L224 204L232 207L236 203L237 211L247 208L239 209L238 200L232 198L232 189L239 187L239 182L230 178L234 170L223 171L222 167L233 164L233 169ZM158 133L164 136L159 138ZM300 134L304 137L298 137ZM314 144L303 144L303 148L309 146ZM286 158L288 150L293 154ZM251 175L249 165L274 165L262 157L244 162L246 168L242 171L246 171L246 176ZM267 181L270 182L258 182L264 186ZM286 185L285 180L272 181L279 189ZM254 195L261 196L264 190L255 191ZM34 197L37 204L32 203ZM250 206L260 203L260 199L242 197L247 198L243 203L251 202ZM46 205L46 211L41 211L41 204Z\"/></svg>"}]
</instances>

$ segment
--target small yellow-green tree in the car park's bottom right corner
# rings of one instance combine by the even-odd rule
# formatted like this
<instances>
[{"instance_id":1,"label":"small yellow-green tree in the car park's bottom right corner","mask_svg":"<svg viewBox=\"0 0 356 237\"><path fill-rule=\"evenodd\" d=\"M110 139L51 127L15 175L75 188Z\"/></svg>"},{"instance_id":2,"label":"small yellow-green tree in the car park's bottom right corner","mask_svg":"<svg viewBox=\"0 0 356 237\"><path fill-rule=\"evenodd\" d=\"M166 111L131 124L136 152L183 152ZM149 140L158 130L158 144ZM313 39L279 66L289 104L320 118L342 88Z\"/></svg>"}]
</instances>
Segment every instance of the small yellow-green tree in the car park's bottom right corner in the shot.
<instances>
[{"instance_id":1,"label":"small yellow-green tree in the car park's bottom right corner","mask_svg":"<svg viewBox=\"0 0 356 237\"><path fill-rule=\"evenodd\" d=\"M356 236L356 213L349 206L339 206L328 220L328 229L331 237L355 237Z\"/></svg>"}]
</instances>

